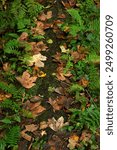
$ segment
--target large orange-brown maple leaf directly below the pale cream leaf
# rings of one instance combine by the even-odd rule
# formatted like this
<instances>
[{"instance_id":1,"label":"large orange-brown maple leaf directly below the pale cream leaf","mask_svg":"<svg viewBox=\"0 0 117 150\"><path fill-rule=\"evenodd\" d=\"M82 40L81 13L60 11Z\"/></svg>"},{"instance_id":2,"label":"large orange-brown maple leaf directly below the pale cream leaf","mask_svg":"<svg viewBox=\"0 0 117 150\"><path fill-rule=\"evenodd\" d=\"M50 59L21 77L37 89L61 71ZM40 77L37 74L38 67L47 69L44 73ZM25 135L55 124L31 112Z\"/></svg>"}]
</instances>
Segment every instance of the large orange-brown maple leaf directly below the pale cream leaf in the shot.
<instances>
[{"instance_id":1,"label":"large orange-brown maple leaf directly below the pale cream leaf","mask_svg":"<svg viewBox=\"0 0 117 150\"><path fill-rule=\"evenodd\" d=\"M16 77L16 79L21 83L21 85L27 89L32 88L35 85L37 77L30 77L28 71L23 72L21 77Z\"/></svg>"}]
</instances>

